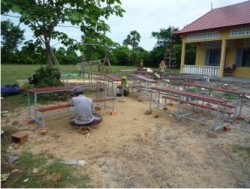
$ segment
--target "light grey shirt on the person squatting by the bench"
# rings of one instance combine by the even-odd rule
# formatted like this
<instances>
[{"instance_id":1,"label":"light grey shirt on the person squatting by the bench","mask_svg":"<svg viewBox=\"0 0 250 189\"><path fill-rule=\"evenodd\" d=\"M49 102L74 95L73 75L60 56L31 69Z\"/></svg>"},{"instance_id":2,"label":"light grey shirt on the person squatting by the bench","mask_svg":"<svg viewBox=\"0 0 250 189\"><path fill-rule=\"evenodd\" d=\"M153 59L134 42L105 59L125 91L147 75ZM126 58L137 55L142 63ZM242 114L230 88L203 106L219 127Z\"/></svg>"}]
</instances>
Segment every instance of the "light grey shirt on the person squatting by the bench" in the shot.
<instances>
[{"instance_id":1,"label":"light grey shirt on the person squatting by the bench","mask_svg":"<svg viewBox=\"0 0 250 189\"><path fill-rule=\"evenodd\" d=\"M92 114L93 101L84 95L78 95L70 100L75 109L75 123L86 124L92 122L95 117Z\"/></svg>"}]
</instances>

